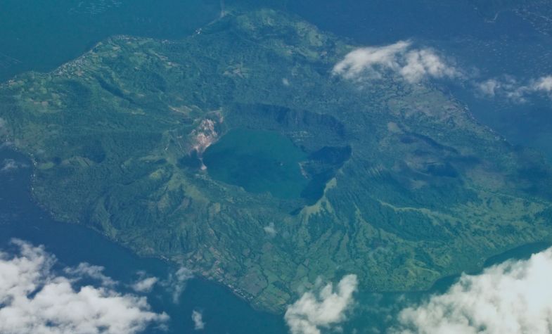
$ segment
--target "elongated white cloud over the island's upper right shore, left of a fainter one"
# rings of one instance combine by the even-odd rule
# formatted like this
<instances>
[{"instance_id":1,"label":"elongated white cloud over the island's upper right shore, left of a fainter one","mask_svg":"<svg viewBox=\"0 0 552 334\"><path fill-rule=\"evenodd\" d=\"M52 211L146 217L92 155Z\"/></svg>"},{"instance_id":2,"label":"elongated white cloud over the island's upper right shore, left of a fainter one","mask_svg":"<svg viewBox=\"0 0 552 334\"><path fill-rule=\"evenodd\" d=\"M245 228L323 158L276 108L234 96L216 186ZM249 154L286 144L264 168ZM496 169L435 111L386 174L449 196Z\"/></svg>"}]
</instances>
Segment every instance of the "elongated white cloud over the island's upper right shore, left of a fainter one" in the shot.
<instances>
[{"instance_id":1,"label":"elongated white cloud over the island's upper right shore, left of a fainter one","mask_svg":"<svg viewBox=\"0 0 552 334\"><path fill-rule=\"evenodd\" d=\"M385 72L396 73L410 83L427 78L462 77L434 50L414 49L410 41L356 49L333 68L334 75L346 79L379 79Z\"/></svg>"}]
</instances>

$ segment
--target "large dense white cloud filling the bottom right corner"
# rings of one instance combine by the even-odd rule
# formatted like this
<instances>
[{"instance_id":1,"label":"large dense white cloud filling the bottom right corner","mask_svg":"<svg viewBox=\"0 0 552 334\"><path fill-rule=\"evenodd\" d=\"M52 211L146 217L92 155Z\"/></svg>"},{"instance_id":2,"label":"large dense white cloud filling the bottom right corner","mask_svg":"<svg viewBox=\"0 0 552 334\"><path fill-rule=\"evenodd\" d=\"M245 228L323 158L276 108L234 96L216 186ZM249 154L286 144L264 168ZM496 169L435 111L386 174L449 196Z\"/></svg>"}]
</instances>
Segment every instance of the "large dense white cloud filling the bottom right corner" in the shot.
<instances>
[{"instance_id":1,"label":"large dense white cloud filling the bottom right corner","mask_svg":"<svg viewBox=\"0 0 552 334\"><path fill-rule=\"evenodd\" d=\"M464 274L447 293L399 314L391 333L552 333L552 249Z\"/></svg>"}]
</instances>

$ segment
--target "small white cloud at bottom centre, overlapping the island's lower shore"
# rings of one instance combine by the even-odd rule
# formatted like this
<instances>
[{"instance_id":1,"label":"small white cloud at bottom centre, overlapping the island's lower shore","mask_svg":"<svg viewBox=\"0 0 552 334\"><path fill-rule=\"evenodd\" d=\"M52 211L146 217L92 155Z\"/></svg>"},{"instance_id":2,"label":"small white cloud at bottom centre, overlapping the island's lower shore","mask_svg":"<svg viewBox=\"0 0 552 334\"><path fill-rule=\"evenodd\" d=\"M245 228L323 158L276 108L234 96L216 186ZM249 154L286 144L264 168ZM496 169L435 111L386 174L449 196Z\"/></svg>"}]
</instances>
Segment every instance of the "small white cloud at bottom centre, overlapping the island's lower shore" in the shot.
<instances>
[{"instance_id":1,"label":"small white cloud at bottom centre, overlapping the island's lower shore","mask_svg":"<svg viewBox=\"0 0 552 334\"><path fill-rule=\"evenodd\" d=\"M320 334L320 328L333 328L347 318L357 290L357 276L347 275L334 290L330 283L319 291L309 291L285 311L292 334Z\"/></svg>"}]
</instances>

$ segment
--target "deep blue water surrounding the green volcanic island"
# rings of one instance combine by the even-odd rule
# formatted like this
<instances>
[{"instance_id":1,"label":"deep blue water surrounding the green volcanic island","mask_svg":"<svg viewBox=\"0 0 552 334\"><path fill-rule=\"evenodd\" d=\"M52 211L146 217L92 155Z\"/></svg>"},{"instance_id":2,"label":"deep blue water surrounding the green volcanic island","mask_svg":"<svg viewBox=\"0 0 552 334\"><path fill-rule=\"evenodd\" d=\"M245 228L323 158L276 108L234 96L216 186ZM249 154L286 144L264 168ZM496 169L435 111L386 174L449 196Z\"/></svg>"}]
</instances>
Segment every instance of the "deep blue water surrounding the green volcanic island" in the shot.
<instances>
[{"instance_id":1,"label":"deep blue water surrounding the green volcanic island","mask_svg":"<svg viewBox=\"0 0 552 334\"><path fill-rule=\"evenodd\" d=\"M274 1L267 4L272 6ZM459 65L478 68L481 77L506 73L527 79L552 69L548 60L552 58L543 56L552 49L548 37L511 13L502 13L489 23L469 1L297 0L278 7L359 45L413 39L454 57ZM216 19L219 11L219 0L0 0L0 81L27 70L52 70L113 34L183 37ZM547 140L552 129L548 100L496 103L475 97L470 87L450 84L444 89L508 140L537 148L552 158L552 141ZM25 161L18 153L1 150L0 162L6 158ZM6 248L11 238L22 238L45 245L65 265L89 262L105 266L105 274L122 283L135 280L139 270L160 278L175 270L158 259L136 257L82 226L53 221L32 202L29 177L29 168L0 174L0 249ZM488 264L526 257L544 247L529 245L490 259ZM454 278L439 281L434 291L442 291L452 282ZM359 306L344 331L383 330L405 304L427 296L361 292ZM155 311L171 316L169 333L192 333L194 309L203 311L204 333L287 333L281 314L256 311L223 286L202 279L189 281L177 304L160 287L148 295L148 302Z\"/></svg>"}]
</instances>

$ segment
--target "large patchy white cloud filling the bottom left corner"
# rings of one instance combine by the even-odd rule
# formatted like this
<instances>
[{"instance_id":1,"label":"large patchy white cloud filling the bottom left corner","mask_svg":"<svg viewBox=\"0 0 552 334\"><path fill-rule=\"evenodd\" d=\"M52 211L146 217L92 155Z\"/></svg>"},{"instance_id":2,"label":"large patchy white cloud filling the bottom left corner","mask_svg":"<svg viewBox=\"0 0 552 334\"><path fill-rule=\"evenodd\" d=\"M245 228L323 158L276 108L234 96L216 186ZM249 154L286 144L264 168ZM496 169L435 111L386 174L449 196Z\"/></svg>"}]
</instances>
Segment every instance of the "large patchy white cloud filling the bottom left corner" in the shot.
<instances>
[{"instance_id":1,"label":"large patchy white cloud filling the bottom left corner","mask_svg":"<svg viewBox=\"0 0 552 334\"><path fill-rule=\"evenodd\" d=\"M75 288L78 275L91 266L62 276L53 269L56 258L44 248L13 243L17 254L0 252L0 333L128 334L168 320L167 314L151 311L144 297L105 286Z\"/></svg>"}]
</instances>

